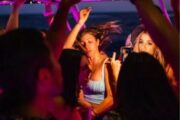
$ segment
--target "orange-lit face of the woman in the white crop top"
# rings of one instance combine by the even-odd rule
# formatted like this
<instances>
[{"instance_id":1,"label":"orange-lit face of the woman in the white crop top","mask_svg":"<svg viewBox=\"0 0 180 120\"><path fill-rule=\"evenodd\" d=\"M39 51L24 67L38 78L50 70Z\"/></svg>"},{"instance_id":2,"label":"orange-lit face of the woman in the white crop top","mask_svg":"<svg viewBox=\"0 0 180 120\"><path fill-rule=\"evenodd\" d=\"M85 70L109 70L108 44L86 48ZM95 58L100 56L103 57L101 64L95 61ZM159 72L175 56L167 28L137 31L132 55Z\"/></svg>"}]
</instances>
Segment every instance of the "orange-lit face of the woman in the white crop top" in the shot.
<instances>
[{"instance_id":1,"label":"orange-lit face of the woman in the white crop top","mask_svg":"<svg viewBox=\"0 0 180 120\"><path fill-rule=\"evenodd\" d=\"M80 43L85 48L87 56L92 56L99 51L99 40L90 33L82 35Z\"/></svg>"}]
</instances>

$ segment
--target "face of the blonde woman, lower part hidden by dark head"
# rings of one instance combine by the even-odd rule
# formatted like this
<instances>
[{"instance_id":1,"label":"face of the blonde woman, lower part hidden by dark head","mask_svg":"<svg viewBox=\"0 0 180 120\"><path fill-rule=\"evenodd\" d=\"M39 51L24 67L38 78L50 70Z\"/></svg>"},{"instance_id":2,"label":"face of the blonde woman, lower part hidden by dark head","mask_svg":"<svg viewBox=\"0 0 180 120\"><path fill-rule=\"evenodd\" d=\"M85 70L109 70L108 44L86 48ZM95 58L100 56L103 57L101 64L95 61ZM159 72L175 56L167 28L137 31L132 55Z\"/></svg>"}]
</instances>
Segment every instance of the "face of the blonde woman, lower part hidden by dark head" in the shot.
<instances>
[{"instance_id":1,"label":"face of the blonde woman, lower part hidden by dark head","mask_svg":"<svg viewBox=\"0 0 180 120\"><path fill-rule=\"evenodd\" d=\"M139 35L139 40L137 44L139 52L146 52L150 55L153 55L155 53L156 45L148 33L142 32Z\"/></svg>"}]
</instances>

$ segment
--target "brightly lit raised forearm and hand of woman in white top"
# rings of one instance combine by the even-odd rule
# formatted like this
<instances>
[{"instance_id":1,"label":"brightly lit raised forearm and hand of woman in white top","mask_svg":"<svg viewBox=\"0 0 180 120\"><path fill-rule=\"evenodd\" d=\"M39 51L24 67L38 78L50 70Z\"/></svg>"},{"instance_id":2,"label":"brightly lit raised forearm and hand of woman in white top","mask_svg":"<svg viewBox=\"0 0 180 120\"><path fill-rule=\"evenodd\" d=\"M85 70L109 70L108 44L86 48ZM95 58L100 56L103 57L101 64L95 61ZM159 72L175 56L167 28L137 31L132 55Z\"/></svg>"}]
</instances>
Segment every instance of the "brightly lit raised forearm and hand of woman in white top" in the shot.
<instances>
[{"instance_id":1,"label":"brightly lit raised forearm and hand of woman in white top","mask_svg":"<svg viewBox=\"0 0 180 120\"><path fill-rule=\"evenodd\" d=\"M72 31L69 33L63 48L72 48L73 44L76 40L76 37L81 29L81 27L84 25L84 23L87 21L89 14L91 12L90 7L83 8L80 11L80 18L78 23L75 25L75 27L72 29Z\"/></svg>"}]
</instances>

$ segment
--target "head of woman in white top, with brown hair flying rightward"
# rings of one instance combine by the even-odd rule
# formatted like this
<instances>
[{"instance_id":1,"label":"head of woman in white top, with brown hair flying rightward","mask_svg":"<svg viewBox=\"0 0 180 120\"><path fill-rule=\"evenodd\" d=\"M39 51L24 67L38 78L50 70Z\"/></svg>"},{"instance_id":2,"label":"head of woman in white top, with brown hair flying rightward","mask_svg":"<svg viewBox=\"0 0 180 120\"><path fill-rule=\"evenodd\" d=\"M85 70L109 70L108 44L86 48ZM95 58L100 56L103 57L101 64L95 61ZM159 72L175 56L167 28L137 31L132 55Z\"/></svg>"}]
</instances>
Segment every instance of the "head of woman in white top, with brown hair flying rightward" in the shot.
<instances>
[{"instance_id":1,"label":"head of woman in white top, with brown hair flying rightward","mask_svg":"<svg viewBox=\"0 0 180 120\"><path fill-rule=\"evenodd\" d=\"M81 45L84 46L88 56L101 51L111 41L112 33L120 33L121 29L117 21L106 22L105 24L88 27L82 30L78 36Z\"/></svg>"}]
</instances>

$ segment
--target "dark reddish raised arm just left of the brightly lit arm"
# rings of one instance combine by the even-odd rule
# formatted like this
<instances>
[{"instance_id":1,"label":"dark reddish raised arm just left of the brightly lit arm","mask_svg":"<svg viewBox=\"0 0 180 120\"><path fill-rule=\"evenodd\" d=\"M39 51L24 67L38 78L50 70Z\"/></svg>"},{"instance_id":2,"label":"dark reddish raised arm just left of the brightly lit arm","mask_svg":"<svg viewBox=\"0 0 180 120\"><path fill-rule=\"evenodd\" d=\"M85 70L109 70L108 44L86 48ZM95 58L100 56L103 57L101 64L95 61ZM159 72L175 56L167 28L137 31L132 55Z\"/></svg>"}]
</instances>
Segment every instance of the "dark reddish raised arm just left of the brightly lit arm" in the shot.
<instances>
[{"instance_id":1,"label":"dark reddish raised arm just left of the brightly lit arm","mask_svg":"<svg viewBox=\"0 0 180 120\"><path fill-rule=\"evenodd\" d=\"M66 39L68 12L70 7L78 2L80 2L80 0L62 0L62 2L59 3L53 23L50 26L46 39L52 47L56 59L59 59Z\"/></svg>"}]
</instances>

